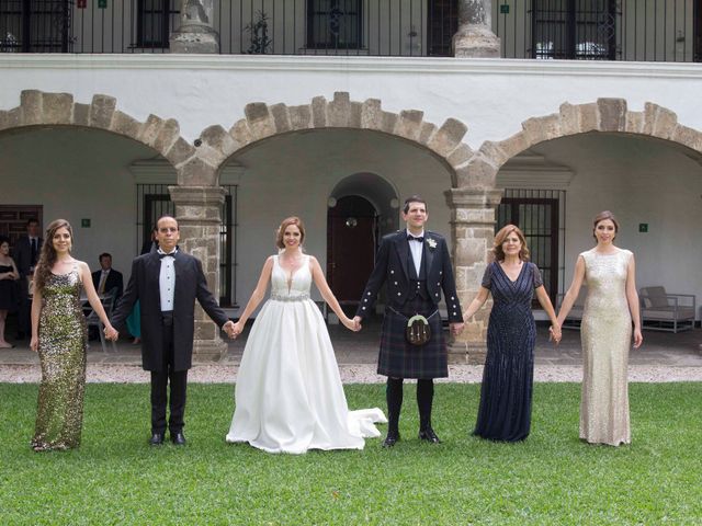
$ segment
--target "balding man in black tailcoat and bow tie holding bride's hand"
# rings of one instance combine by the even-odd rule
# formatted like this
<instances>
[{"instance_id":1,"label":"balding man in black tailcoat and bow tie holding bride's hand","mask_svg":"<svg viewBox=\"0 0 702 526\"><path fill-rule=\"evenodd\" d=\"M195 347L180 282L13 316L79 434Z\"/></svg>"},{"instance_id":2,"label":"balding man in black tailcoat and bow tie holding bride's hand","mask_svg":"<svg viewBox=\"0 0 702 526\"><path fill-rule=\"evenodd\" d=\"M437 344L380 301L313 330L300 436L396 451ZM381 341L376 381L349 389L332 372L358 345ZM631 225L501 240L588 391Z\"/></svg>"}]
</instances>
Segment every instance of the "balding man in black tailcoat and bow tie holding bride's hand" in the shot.
<instances>
[{"instance_id":1,"label":"balding man in black tailcoat and bow tie holding bride's hand","mask_svg":"<svg viewBox=\"0 0 702 526\"><path fill-rule=\"evenodd\" d=\"M163 443L166 435L166 403L170 380L171 442L185 444L183 415L188 369L192 366L195 299L207 316L234 335L234 322L219 308L207 289L202 263L178 249L178 221L163 216L157 221L158 250L139 255L132 263L127 288L112 317L117 330L125 329L125 320L138 299L141 305L141 359L145 370L151 371L151 445Z\"/></svg>"}]
</instances>

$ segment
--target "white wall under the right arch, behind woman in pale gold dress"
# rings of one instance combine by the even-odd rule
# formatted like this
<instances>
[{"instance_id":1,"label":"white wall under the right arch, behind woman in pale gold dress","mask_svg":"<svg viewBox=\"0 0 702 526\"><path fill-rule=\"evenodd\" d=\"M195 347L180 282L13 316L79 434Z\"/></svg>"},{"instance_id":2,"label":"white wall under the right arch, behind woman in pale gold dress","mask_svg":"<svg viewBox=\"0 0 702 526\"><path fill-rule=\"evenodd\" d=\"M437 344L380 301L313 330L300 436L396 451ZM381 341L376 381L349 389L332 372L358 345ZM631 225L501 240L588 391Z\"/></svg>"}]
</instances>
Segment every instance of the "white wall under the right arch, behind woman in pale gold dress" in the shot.
<instances>
[{"instance_id":1,"label":"white wall under the right arch, behind woman in pale gold dress","mask_svg":"<svg viewBox=\"0 0 702 526\"><path fill-rule=\"evenodd\" d=\"M592 218L618 217L615 243L634 252L637 287L664 285L671 294L702 300L702 167L680 150L650 139L585 135L546 142L534 150L568 165L564 289L578 254L595 245ZM648 232L638 231L639 224Z\"/></svg>"}]
</instances>

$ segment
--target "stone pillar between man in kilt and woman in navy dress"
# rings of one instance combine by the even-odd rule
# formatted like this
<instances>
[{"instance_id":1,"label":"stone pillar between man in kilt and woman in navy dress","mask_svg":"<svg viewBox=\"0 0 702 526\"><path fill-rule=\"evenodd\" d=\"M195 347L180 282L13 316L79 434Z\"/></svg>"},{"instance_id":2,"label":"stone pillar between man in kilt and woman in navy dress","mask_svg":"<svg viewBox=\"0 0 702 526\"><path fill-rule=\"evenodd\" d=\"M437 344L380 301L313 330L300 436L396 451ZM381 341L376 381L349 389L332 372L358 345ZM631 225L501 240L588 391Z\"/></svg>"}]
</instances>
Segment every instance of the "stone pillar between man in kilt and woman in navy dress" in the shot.
<instances>
[{"instance_id":1,"label":"stone pillar between man in kilt and woman in navy dress","mask_svg":"<svg viewBox=\"0 0 702 526\"><path fill-rule=\"evenodd\" d=\"M445 192L451 207L453 263L461 307L465 311L478 291L489 261L495 236L495 208L501 190L452 188ZM449 343L450 363L484 364L487 320L491 300L465 325L463 333Z\"/></svg>"}]
</instances>

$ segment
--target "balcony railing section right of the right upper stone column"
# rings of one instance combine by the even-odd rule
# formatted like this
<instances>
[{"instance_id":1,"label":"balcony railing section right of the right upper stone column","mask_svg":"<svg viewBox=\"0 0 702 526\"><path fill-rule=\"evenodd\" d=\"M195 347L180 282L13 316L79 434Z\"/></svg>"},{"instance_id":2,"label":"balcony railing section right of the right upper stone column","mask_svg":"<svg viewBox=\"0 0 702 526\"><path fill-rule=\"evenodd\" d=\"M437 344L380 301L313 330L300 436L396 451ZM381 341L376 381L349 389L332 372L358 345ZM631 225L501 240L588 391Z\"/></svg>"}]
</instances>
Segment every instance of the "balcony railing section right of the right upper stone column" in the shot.
<instances>
[{"instance_id":1,"label":"balcony railing section right of the right upper stone column","mask_svg":"<svg viewBox=\"0 0 702 526\"><path fill-rule=\"evenodd\" d=\"M505 58L702 60L699 0L497 0Z\"/></svg>"}]
</instances>

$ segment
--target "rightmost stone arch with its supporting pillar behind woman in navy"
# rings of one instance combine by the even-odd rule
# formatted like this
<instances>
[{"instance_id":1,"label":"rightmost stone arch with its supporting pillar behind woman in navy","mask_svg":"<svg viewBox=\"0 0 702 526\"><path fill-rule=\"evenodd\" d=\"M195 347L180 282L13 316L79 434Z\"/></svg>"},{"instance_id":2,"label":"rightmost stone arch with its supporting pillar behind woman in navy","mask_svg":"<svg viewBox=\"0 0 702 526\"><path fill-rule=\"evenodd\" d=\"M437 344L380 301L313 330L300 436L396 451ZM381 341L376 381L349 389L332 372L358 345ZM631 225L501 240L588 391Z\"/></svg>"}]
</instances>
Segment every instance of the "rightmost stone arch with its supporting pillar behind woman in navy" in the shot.
<instances>
[{"instance_id":1,"label":"rightmost stone arch with its supporting pillar behind woman in navy","mask_svg":"<svg viewBox=\"0 0 702 526\"><path fill-rule=\"evenodd\" d=\"M502 164L540 142L598 132L663 139L702 153L702 132L679 124L673 112L650 102L645 104L643 112L632 112L624 99L598 99L577 105L566 102L558 113L524 121L522 130L505 140L484 142L457 173L458 188L452 191L457 216L465 218L467 231L465 236L457 236L455 261L457 273L467 278L465 289L469 294L461 296L464 305L477 291L487 264L495 207L501 196L501 191L495 190L495 181ZM458 231L463 232L462 229ZM485 309L476 315L475 322L468 323L460 339L465 342L469 362L484 361L488 313L489 309Z\"/></svg>"}]
</instances>

